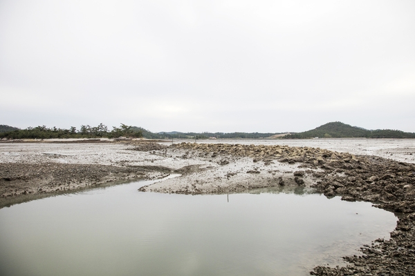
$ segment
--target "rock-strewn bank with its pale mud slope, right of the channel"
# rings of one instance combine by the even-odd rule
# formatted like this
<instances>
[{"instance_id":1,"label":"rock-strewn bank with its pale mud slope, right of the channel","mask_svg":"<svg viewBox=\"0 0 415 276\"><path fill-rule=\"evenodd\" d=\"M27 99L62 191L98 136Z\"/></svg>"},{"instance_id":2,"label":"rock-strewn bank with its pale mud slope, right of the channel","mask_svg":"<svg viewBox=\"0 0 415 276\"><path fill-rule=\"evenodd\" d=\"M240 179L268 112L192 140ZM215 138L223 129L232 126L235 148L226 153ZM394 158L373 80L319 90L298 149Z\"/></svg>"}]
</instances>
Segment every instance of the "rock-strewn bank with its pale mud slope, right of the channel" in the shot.
<instances>
[{"instance_id":1,"label":"rock-strewn bank with its pale mud slope, right of the channel","mask_svg":"<svg viewBox=\"0 0 415 276\"><path fill-rule=\"evenodd\" d=\"M185 178L182 177L185 181L181 183L175 183L171 179L164 184L160 182L143 187L142 191L226 193L228 190L238 191L238 188L256 188L250 185L254 180L260 183L256 184L259 186L286 185L286 181L279 179L288 172L289 176L286 179L293 180L288 185L309 186L327 197L339 195L347 201L370 201L378 208L393 211L399 217L396 229L391 233L391 239L378 239L362 247L362 256L344 257L349 262L346 267L317 266L311 274L415 275L414 164L306 147L183 143L171 146L170 149L172 152L180 152L183 159L199 157L219 167L228 168L190 168L190 173ZM278 164L289 166L288 170L266 169L275 168ZM232 166L237 166L239 171L232 171ZM295 166L297 171L291 171ZM212 172L203 175L208 170ZM229 176L228 172L232 175ZM250 175L257 177L253 177L251 182L247 181L245 186L239 187L238 182L241 179L232 181L234 173L243 175L241 179L249 179ZM268 177L259 177L261 174Z\"/></svg>"}]
</instances>

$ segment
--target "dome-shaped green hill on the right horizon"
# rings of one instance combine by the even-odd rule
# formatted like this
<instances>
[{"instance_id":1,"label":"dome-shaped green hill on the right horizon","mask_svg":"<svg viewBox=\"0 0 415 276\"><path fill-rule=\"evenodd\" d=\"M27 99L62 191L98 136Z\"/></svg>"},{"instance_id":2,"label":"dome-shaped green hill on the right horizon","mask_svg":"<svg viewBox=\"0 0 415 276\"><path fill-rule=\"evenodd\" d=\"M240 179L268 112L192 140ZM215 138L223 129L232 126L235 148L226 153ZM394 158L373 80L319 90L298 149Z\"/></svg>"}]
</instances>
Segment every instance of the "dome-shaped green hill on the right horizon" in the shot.
<instances>
[{"instance_id":1,"label":"dome-shaped green hill on the right horizon","mask_svg":"<svg viewBox=\"0 0 415 276\"><path fill-rule=\"evenodd\" d=\"M366 130L357 126L334 121L313 130L286 135L284 139L307 138L415 138L415 133L400 130Z\"/></svg>"}]
</instances>

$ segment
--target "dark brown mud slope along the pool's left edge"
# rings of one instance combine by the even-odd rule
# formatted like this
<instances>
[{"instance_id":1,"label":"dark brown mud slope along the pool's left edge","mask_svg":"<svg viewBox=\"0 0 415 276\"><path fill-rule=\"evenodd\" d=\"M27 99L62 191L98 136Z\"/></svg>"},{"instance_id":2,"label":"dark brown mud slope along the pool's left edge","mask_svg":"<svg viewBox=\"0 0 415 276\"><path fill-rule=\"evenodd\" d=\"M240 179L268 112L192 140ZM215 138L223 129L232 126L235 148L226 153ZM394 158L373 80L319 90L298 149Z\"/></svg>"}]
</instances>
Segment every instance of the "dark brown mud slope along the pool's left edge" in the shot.
<instances>
[{"instance_id":1,"label":"dark brown mud slope along the pool's left edge","mask_svg":"<svg viewBox=\"0 0 415 276\"><path fill-rule=\"evenodd\" d=\"M169 169L159 166L0 163L0 208L108 182L149 178L147 172L165 175Z\"/></svg>"}]
</instances>

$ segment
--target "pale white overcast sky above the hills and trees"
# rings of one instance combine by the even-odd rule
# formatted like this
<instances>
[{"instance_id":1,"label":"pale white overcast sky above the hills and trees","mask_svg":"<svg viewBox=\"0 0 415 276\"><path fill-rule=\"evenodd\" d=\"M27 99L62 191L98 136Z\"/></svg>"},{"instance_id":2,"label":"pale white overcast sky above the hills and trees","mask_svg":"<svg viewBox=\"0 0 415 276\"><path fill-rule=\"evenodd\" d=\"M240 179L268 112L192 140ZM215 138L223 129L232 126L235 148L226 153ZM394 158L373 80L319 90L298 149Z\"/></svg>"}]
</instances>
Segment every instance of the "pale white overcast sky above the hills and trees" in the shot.
<instances>
[{"instance_id":1,"label":"pale white overcast sky above the hills and trees","mask_svg":"<svg viewBox=\"0 0 415 276\"><path fill-rule=\"evenodd\" d=\"M415 132L415 1L0 0L0 124Z\"/></svg>"}]
</instances>

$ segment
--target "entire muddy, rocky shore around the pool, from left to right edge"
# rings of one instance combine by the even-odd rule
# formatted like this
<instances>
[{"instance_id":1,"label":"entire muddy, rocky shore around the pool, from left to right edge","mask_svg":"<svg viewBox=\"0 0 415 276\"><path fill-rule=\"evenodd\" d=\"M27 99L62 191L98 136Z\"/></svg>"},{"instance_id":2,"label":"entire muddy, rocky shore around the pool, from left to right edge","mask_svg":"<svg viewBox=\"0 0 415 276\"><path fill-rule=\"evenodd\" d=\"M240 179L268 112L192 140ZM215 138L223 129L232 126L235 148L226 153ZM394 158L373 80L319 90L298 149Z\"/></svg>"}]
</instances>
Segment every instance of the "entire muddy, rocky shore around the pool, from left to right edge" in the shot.
<instances>
[{"instance_id":1,"label":"entire muddy, rocky shore around the pool, from left to right edge","mask_svg":"<svg viewBox=\"0 0 415 276\"><path fill-rule=\"evenodd\" d=\"M415 275L415 165L320 148L241 144L8 144L0 146L2 206L18 197L98 186L109 181L158 179L141 191L238 193L299 186L327 197L370 201L399 218L391 239L361 248L342 268L317 266L313 275Z\"/></svg>"}]
</instances>

